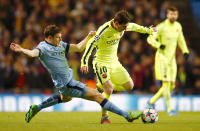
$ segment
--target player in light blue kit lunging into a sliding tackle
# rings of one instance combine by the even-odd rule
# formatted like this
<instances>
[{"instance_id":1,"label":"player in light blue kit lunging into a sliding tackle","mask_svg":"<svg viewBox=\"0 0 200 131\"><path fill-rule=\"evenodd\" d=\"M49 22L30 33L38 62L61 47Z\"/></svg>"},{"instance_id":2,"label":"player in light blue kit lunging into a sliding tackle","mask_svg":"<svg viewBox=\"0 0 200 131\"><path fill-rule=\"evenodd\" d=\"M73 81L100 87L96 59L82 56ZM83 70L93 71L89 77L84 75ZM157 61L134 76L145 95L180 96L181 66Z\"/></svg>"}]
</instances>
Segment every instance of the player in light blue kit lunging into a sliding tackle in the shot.
<instances>
[{"instance_id":1,"label":"player in light blue kit lunging into a sliding tackle","mask_svg":"<svg viewBox=\"0 0 200 131\"><path fill-rule=\"evenodd\" d=\"M73 71L69 68L65 55L68 52L83 51L87 41L94 34L95 32L90 32L79 44L68 44L62 41L60 28L56 25L49 25L44 30L45 41L40 42L37 48L33 50L24 49L16 43L11 43L11 50L24 53L30 57L39 57L43 66L51 74L55 87L60 92L59 95L55 94L39 105L31 105L25 116L26 122L30 122L43 108L57 103L68 102L72 97L96 101L102 108L123 116L128 122L132 122L141 116L141 111L129 113L123 111L108 101L96 89L87 88L85 84L74 80Z\"/></svg>"}]
</instances>

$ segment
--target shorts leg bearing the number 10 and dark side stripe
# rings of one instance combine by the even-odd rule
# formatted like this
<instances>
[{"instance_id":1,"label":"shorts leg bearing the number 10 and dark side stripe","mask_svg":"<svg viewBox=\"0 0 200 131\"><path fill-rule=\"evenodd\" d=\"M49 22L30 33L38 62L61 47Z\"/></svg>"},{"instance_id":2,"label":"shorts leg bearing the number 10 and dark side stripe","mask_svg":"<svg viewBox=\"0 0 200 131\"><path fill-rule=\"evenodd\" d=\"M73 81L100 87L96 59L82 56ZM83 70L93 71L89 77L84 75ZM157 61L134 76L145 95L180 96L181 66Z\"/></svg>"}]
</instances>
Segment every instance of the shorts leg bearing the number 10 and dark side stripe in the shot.
<instances>
[{"instance_id":1,"label":"shorts leg bearing the number 10 and dark side stripe","mask_svg":"<svg viewBox=\"0 0 200 131\"><path fill-rule=\"evenodd\" d=\"M94 62L93 69L97 77L97 86L103 88L106 81L110 80L110 68L102 63Z\"/></svg>"}]
</instances>

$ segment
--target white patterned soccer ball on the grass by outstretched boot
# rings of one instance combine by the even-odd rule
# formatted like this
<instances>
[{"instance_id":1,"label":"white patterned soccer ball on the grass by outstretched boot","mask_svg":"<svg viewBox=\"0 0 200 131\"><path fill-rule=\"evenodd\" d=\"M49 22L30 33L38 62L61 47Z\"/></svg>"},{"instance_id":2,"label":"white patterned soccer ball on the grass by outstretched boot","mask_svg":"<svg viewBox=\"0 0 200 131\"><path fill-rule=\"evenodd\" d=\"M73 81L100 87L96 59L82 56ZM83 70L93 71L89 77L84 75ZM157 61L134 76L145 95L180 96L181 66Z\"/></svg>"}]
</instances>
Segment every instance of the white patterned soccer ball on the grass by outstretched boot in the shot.
<instances>
[{"instance_id":1,"label":"white patterned soccer ball on the grass by outstretched boot","mask_svg":"<svg viewBox=\"0 0 200 131\"><path fill-rule=\"evenodd\" d=\"M158 121L158 112L154 109L145 109L141 118L144 123L155 123Z\"/></svg>"}]
</instances>

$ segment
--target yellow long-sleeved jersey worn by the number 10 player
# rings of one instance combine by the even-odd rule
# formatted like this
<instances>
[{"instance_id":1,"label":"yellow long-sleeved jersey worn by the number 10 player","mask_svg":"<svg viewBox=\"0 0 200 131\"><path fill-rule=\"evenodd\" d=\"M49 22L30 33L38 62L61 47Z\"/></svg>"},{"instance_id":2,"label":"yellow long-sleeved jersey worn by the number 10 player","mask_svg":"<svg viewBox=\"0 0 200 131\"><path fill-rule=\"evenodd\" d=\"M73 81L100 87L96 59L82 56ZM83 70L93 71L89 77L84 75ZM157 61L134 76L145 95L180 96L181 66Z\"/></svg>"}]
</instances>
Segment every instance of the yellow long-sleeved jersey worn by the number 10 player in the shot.
<instances>
[{"instance_id":1,"label":"yellow long-sleeved jersey worn by the number 10 player","mask_svg":"<svg viewBox=\"0 0 200 131\"><path fill-rule=\"evenodd\" d=\"M123 36L123 32L118 32L111 26L111 21L106 22L96 32L96 35L92 37L86 46L86 50L81 59L81 66L88 66L88 58L94 48L97 49L95 54L95 60L100 63L112 65L118 61L117 50L119 46L120 38ZM125 31L135 31L140 33L152 34L153 29L137 25L135 23L129 23Z\"/></svg>"}]
</instances>

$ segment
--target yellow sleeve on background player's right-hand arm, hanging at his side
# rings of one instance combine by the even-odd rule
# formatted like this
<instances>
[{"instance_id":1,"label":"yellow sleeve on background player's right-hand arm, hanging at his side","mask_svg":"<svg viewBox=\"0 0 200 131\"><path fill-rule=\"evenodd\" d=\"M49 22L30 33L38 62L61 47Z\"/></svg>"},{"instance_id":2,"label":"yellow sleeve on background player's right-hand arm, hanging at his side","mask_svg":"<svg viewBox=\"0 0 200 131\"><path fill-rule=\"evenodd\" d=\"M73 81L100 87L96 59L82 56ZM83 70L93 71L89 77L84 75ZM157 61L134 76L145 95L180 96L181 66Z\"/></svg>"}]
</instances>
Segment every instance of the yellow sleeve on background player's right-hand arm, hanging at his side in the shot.
<instances>
[{"instance_id":1,"label":"yellow sleeve on background player's right-hand arm, hanging at his side","mask_svg":"<svg viewBox=\"0 0 200 131\"><path fill-rule=\"evenodd\" d=\"M181 25L180 25L179 35L178 35L178 45L183 53L189 53Z\"/></svg>"}]
</instances>

